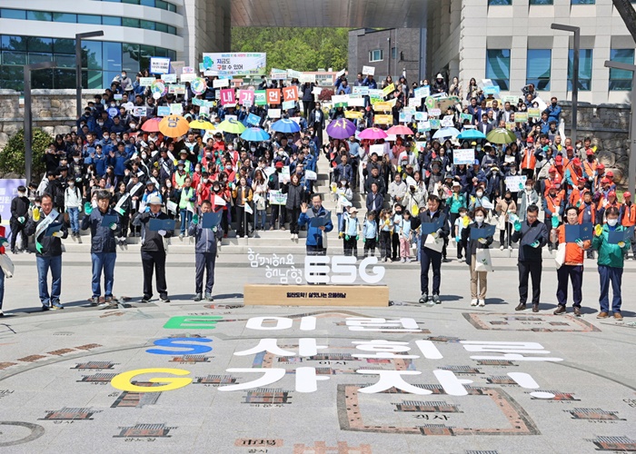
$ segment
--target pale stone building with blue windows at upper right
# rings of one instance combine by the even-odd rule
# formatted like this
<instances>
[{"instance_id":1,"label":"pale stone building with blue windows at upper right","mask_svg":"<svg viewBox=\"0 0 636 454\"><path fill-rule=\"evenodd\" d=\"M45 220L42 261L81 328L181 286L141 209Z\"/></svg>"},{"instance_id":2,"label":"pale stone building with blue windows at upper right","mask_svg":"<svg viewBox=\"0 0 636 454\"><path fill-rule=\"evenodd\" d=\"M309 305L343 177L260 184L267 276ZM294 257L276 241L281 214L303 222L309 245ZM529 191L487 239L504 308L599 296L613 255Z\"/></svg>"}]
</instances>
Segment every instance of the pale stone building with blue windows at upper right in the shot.
<instances>
[{"instance_id":1,"label":"pale stone building with blue windows at upper right","mask_svg":"<svg viewBox=\"0 0 636 454\"><path fill-rule=\"evenodd\" d=\"M579 101L630 102L631 73L606 60L634 64L634 44L611 0L432 0L427 75L492 79L502 94L534 84L542 99L571 99L572 34L581 27Z\"/></svg>"}]
</instances>

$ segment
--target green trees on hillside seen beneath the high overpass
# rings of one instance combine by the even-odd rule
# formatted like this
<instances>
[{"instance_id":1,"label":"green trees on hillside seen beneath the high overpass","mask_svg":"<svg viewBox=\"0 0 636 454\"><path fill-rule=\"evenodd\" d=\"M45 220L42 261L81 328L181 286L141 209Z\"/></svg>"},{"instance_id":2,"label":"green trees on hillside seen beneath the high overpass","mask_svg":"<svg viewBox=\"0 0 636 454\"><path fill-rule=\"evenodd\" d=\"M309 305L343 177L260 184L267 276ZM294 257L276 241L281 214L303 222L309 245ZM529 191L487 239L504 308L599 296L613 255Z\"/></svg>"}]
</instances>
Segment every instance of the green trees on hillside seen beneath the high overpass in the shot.
<instances>
[{"instance_id":1,"label":"green trees on hillside seen beneath the high overpass","mask_svg":"<svg viewBox=\"0 0 636 454\"><path fill-rule=\"evenodd\" d=\"M270 69L317 71L347 66L347 28L233 27L233 52L266 52Z\"/></svg>"}]
</instances>

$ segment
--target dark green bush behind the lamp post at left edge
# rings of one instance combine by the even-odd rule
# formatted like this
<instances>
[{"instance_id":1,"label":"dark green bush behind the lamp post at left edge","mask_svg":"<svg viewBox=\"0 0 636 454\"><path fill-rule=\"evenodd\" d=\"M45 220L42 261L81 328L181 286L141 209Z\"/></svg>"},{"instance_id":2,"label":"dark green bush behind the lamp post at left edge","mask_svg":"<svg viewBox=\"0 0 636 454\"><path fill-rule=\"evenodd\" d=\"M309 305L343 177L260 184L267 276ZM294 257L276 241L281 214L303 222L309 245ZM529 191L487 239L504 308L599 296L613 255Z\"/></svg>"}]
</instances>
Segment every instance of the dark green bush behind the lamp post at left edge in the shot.
<instances>
[{"instance_id":1,"label":"dark green bush behind the lamp post at left edge","mask_svg":"<svg viewBox=\"0 0 636 454\"><path fill-rule=\"evenodd\" d=\"M39 179L45 172L44 155L49 143L53 142L53 137L45 133L40 128L33 130L33 165L32 175L26 178L30 181L32 177ZM21 129L6 143L5 149L0 151L0 172L25 174L25 130Z\"/></svg>"}]
</instances>

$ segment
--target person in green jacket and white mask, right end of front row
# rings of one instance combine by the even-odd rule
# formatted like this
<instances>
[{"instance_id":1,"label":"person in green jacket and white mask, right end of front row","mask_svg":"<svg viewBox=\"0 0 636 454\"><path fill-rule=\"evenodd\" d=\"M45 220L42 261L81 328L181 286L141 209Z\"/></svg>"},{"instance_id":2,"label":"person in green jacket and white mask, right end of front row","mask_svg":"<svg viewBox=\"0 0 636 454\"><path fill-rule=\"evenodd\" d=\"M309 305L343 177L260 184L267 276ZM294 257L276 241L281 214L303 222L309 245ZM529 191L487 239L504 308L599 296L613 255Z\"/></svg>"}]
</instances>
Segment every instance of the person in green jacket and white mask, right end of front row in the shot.
<instances>
[{"instance_id":1,"label":"person in green jacket and white mask, right end of front row","mask_svg":"<svg viewBox=\"0 0 636 454\"><path fill-rule=\"evenodd\" d=\"M594 239L591 247L599 252L598 269L601 281L599 303L601 313L597 319L607 319L610 316L610 282L613 298L611 311L614 319L622 320L621 314L621 285L622 269L624 266L624 254L630 250L631 241L625 238L626 229L619 223L619 210L610 207L605 211L607 222L604 225L597 224L594 228Z\"/></svg>"}]
</instances>

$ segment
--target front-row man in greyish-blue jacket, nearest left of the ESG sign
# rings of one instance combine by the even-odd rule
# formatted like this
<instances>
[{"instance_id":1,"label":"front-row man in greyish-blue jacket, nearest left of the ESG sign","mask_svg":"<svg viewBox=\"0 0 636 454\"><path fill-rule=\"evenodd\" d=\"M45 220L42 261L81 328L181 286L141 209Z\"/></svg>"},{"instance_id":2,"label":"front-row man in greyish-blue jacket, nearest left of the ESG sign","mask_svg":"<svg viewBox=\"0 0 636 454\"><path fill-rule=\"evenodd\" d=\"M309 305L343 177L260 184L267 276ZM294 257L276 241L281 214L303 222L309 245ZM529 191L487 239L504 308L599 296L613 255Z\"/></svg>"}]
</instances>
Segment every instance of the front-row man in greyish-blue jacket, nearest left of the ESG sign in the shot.
<instances>
[{"instance_id":1,"label":"front-row man in greyish-blue jacket, nearest left of the ESG sign","mask_svg":"<svg viewBox=\"0 0 636 454\"><path fill-rule=\"evenodd\" d=\"M204 200L201 203L201 212L212 212L212 203ZM198 214L194 214L188 234L194 236L194 257L196 271L194 271L194 286L196 294L194 301L203 300L204 293L204 272L207 273L205 280L205 300L214 301L212 288L214 287L214 263L216 262L216 242L223 238L223 231L214 226L212 229L204 229L203 216L199 219Z\"/></svg>"}]
</instances>

